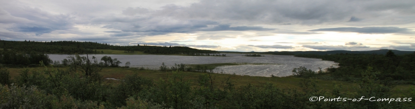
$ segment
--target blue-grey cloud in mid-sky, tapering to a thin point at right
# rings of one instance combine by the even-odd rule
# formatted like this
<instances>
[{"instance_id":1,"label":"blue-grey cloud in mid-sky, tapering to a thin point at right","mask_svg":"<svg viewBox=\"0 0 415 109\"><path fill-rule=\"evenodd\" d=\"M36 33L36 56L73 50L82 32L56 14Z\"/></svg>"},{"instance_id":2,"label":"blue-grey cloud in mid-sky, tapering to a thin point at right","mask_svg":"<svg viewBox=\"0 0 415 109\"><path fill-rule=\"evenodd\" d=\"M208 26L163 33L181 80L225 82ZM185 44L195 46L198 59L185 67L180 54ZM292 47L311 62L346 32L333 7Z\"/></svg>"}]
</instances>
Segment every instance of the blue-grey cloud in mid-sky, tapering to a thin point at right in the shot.
<instances>
[{"instance_id":1,"label":"blue-grey cloud in mid-sky, tapering to a thin point at right","mask_svg":"<svg viewBox=\"0 0 415 109\"><path fill-rule=\"evenodd\" d=\"M125 20L124 20L125 19ZM144 18L143 18L144 19ZM161 22L160 20L164 19L150 19L147 20L132 20L127 18L114 18L109 17L97 18L95 21L102 22L117 22L109 25L105 25L102 28L109 29L118 29L123 32L136 32L140 35L164 35L169 33L196 33L199 31L270 31L275 30L271 28L263 28L258 26L235 26L231 25L220 25L214 21L206 20L188 20L188 21L179 21L172 20L171 22ZM131 20L129 22L128 20ZM127 23L128 22L128 23Z\"/></svg>"}]
</instances>

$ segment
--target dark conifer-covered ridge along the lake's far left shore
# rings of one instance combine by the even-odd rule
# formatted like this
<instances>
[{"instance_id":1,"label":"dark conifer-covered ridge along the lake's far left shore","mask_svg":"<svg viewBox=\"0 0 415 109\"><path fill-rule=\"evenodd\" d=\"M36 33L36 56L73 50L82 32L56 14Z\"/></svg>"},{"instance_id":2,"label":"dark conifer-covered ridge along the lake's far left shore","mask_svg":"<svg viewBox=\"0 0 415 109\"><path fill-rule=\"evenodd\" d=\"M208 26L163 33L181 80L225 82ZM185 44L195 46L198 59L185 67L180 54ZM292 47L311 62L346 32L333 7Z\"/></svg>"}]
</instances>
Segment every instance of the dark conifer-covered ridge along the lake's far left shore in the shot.
<instances>
[{"instance_id":1,"label":"dark conifer-covered ridge along the lake's far left shore","mask_svg":"<svg viewBox=\"0 0 415 109\"><path fill-rule=\"evenodd\" d=\"M149 54L206 54L219 53L214 50L195 49L186 46L149 46L149 45L110 45L98 42L78 42L78 41L7 41L0 40L0 48L11 49L21 52L41 52L41 53L62 53L62 54L86 54L86 53L106 53L99 49L124 50L125 52L142 51ZM97 50L98 49L98 50Z\"/></svg>"}]
</instances>

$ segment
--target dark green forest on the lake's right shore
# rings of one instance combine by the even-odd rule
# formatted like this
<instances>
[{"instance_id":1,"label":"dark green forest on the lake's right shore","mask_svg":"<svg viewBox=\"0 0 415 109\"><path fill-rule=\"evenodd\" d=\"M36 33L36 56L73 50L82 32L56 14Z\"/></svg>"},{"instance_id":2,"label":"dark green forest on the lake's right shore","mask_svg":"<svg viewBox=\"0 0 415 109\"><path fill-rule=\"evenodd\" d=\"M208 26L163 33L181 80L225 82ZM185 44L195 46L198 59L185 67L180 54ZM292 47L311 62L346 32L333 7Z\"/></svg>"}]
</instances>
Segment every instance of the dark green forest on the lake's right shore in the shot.
<instances>
[{"instance_id":1,"label":"dark green forest on the lake's right shore","mask_svg":"<svg viewBox=\"0 0 415 109\"><path fill-rule=\"evenodd\" d=\"M331 77L346 81L361 78L360 72L368 67L379 72L380 80L394 80L393 83L415 84L415 52L395 55L389 50L385 55L337 53L332 55L299 54L295 57L317 58L339 63L337 68L327 69Z\"/></svg>"}]
</instances>

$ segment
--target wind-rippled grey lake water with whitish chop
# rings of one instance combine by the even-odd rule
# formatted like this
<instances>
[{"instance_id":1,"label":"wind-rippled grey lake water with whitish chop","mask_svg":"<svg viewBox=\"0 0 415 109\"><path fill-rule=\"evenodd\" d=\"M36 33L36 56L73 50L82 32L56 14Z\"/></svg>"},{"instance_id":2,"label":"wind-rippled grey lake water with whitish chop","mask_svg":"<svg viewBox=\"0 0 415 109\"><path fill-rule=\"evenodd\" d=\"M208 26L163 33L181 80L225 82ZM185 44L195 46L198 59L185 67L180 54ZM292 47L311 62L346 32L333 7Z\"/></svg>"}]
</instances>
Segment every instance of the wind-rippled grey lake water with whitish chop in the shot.
<instances>
[{"instance_id":1,"label":"wind-rippled grey lake water with whitish chop","mask_svg":"<svg viewBox=\"0 0 415 109\"><path fill-rule=\"evenodd\" d=\"M159 69L164 62L166 66L174 66L174 64L214 64L214 63L264 63L269 65L238 65L218 67L216 73L249 75L249 76L265 76L271 75L284 77L292 75L292 69L304 66L307 69L318 71L334 66L337 63L331 61L322 61L321 59L298 58L293 56L265 55L265 57L243 57L244 54L228 53L228 57L207 57L207 56L165 56L165 55L88 55L96 57L98 61L103 56L109 56L112 59L118 59L122 62L120 66L124 66L126 62L130 62L130 67L144 67L149 69ZM69 55L49 55L53 61L61 61ZM86 57L86 55L80 55ZM280 65L276 65L280 64Z\"/></svg>"}]
</instances>

